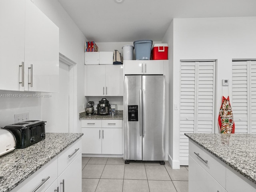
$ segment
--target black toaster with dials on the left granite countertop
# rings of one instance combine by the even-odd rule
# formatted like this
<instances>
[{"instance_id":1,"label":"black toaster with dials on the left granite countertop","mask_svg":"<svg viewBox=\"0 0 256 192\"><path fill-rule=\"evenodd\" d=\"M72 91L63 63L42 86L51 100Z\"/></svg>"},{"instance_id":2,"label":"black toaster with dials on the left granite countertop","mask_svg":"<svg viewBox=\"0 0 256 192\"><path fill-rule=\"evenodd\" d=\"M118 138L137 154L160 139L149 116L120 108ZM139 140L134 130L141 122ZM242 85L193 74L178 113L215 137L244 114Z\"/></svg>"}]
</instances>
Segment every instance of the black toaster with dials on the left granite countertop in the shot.
<instances>
[{"instance_id":1,"label":"black toaster with dials on the left granite countertop","mask_svg":"<svg viewBox=\"0 0 256 192\"><path fill-rule=\"evenodd\" d=\"M45 122L29 120L7 125L4 129L12 132L16 138L16 148L26 148L45 139Z\"/></svg>"}]
</instances>

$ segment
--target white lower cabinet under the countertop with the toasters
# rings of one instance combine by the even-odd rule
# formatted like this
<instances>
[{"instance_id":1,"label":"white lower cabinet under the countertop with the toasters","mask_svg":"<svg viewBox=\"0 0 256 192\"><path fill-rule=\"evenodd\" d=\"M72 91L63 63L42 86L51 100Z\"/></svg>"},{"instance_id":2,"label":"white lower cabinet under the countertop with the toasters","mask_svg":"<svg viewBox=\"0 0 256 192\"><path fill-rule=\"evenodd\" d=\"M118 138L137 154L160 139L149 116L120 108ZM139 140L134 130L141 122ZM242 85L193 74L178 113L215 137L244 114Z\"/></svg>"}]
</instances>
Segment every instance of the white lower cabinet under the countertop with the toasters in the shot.
<instances>
[{"instance_id":1,"label":"white lower cabinet under the countertop with the toasters","mask_svg":"<svg viewBox=\"0 0 256 192\"><path fill-rule=\"evenodd\" d=\"M24 180L11 192L82 191L82 138ZM64 180L64 184L63 184ZM64 186L64 189L63 189Z\"/></svg>"}]
</instances>

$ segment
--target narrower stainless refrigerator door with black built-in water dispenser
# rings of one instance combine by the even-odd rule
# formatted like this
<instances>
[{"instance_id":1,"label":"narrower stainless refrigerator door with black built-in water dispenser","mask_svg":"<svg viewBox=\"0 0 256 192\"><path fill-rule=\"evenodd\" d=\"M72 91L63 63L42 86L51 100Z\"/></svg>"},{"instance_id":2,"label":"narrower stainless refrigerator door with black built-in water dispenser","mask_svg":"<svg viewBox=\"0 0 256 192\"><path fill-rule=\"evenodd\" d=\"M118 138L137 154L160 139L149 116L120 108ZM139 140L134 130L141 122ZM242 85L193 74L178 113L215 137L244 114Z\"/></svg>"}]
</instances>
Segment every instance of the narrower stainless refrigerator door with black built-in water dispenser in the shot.
<instances>
[{"instance_id":1,"label":"narrower stainless refrigerator door with black built-in water dispenser","mask_svg":"<svg viewBox=\"0 0 256 192\"><path fill-rule=\"evenodd\" d=\"M124 159L142 160L142 76L124 76ZM138 120L128 121L128 106L138 106Z\"/></svg>"}]
</instances>

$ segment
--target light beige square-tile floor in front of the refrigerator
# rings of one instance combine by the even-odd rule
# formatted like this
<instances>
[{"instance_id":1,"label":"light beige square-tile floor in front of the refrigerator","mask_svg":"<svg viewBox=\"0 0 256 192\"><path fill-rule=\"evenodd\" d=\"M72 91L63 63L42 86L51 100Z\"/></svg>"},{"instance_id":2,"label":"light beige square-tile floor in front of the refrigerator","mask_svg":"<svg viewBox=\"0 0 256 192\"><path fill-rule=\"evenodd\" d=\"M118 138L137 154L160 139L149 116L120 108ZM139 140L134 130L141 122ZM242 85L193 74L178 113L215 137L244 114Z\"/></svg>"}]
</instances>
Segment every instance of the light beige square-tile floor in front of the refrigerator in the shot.
<instances>
[{"instance_id":1,"label":"light beige square-tile floor in front of the refrigerator","mask_svg":"<svg viewBox=\"0 0 256 192\"><path fill-rule=\"evenodd\" d=\"M82 192L188 192L188 166L83 157Z\"/></svg>"}]
</instances>

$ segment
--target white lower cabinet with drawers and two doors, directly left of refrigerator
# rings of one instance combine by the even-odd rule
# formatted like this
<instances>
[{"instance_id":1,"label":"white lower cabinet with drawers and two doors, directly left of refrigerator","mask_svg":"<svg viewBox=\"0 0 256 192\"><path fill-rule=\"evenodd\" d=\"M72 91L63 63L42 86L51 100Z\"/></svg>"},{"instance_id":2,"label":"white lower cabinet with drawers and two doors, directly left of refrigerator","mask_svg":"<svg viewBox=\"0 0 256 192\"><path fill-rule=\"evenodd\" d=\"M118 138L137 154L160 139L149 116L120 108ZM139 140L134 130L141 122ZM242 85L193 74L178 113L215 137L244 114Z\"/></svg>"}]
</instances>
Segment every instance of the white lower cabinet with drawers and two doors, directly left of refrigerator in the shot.
<instances>
[{"instance_id":1,"label":"white lower cabinet with drawers and two doors, directly left of refrigerator","mask_svg":"<svg viewBox=\"0 0 256 192\"><path fill-rule=\"evenodd\" d=\"M122 120L81 120L83 154L123 154Z\"/></svg>"}]
</instances>

